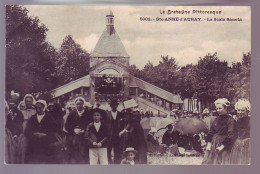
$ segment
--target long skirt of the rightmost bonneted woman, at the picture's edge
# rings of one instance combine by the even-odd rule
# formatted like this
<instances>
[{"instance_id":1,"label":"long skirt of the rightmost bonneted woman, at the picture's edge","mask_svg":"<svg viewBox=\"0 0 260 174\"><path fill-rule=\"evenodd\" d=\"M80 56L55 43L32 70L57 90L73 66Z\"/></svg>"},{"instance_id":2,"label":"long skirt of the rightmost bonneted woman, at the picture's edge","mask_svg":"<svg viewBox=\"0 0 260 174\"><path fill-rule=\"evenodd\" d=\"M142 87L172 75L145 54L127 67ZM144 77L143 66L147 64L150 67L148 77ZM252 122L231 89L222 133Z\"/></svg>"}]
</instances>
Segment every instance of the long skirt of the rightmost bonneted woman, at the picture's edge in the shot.
<instances>
[{"instance_id":1,"label":"long skirt of the rightmost bonneted woman, at the picture's edge","mask_svg":"<svg viewBox=\"0 0 260 174\"><path fill-rule=\"evenodd\" d=\"M237 139L230 154L230 164L248 165L251 161L250 138Z\"/></svg>"}]
</instances>

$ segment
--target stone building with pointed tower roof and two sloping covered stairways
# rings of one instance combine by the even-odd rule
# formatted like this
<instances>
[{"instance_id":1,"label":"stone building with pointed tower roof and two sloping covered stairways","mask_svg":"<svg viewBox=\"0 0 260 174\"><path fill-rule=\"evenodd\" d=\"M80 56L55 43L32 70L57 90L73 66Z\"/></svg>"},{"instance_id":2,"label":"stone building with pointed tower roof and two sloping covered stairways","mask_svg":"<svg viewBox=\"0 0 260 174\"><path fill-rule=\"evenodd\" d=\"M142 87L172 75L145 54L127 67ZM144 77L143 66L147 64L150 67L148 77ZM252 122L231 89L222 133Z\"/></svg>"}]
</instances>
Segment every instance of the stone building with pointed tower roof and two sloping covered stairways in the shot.
<instances>
[{"instance_id":1,"label":"stone building with pointed tower roof and two sloping covered stairways","mask_svg":"<svg viewBox=\"0 0 260 174\"><path fill-rule=\"evenodd\" d=\"M129 55L114 28L114 15L106 15L106 28L90 57L89 75L51 91L58 102L78 96L90 103L107 104L112 99L122 103L134 98L143 112L168 115L172 109L183 109L179 95L167 92L129 73Z\"/></svg>"}]
</instances>

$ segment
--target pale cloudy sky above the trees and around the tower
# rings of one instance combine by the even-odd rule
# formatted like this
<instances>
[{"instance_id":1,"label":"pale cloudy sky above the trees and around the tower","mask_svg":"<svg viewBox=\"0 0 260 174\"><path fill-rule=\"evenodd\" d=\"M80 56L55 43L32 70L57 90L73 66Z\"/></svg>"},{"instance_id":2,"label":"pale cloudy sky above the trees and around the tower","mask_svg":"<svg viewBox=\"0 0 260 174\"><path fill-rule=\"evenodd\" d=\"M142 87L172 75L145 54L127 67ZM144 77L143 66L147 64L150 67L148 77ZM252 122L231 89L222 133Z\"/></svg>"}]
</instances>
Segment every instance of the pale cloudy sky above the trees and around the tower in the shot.
<instances>
[{"instance_id":1,"label":"pale cloudy sky above the trees and around the tower","mask_svg":"<svg viewBox=\"0 0 260 174\"><path fill-rule=\"evenodd\" d=\"M157 65L161 55L180 66L196 64L208 53L218 53L229 64L251 51L251 9L245 6L25 6L49 29L47 41L57 49L65 36L91 53L106 27L106 15L114 14L115 29L130 56L130 64ZM166 14L161 14L162 11ZM167 14L168 10L221 11L221 14ZM141 21L150 17L154 21ZM156 21L156 18L201 18L201 21ZM213 21L207 21L207 18ZM214 21L241 18L242 21Z\"/></svg>"}]
</instances>

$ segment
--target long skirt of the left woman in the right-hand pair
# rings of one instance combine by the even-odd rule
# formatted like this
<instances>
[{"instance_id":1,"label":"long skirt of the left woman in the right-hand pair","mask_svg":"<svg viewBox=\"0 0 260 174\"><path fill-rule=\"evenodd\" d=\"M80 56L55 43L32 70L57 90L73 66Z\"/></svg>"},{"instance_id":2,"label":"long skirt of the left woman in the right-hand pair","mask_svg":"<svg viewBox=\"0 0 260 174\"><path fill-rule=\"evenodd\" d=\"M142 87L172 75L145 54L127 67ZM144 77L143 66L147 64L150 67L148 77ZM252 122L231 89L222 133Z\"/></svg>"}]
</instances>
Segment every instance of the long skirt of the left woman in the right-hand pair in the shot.
<instances>
[{"instance_id":1,"label":"long skirt of the left woman in the right-hand pair","mask_svg":"<svg viewBox=\"0 0 260 174\"><path fill-rule=\"evenodd\" d=\"M211 150L206 151L202 164L229 164L230 149L224 148L222 151L218 151L219 147L226 136L214 135L211 141Z\"/></svg>"}]
</instances>

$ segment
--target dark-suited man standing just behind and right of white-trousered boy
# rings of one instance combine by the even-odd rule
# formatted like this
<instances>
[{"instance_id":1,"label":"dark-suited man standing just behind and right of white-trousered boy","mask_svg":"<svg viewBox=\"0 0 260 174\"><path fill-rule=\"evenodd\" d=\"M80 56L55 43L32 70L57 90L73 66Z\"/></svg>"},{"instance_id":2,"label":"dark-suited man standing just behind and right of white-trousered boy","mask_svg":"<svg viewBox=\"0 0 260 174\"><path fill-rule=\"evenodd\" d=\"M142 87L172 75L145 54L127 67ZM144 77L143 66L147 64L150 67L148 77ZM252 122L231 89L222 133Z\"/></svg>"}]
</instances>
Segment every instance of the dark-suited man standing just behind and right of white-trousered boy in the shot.
<instances>
[{"instance_id":1,"label":"dark-suited man standing just behind and right of white-trousered boy","mask_svg":"<svg viewBox=\"0 0 260 174\"><path fill-rule=\"evenodd\" d=\"M112 100L110 102L111 111L107 113L107 118L105 123L108 128L108 137L109 137L109 144L108 144L108 161L112 163L111 152L112 149L114 150L114 163L120 164L122 154L120 152L120 120L123 119L123 114L117 111L119 103L117 100Z\"/></svg>"}]
</instances>

